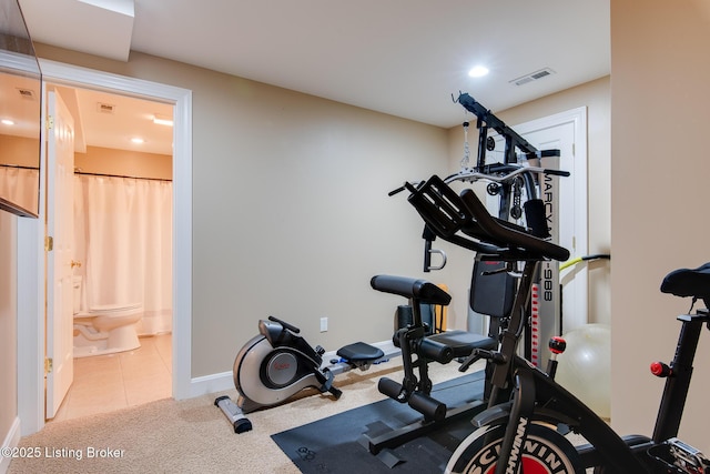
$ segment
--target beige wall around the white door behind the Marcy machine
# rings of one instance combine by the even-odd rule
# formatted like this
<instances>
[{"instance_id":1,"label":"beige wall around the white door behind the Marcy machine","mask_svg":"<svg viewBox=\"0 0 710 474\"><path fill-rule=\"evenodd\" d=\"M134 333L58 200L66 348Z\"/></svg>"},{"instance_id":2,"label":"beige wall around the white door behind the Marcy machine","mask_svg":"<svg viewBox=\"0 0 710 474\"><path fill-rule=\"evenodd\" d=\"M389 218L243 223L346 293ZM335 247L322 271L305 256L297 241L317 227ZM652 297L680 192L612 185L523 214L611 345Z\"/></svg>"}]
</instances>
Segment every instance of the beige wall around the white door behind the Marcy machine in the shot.
<instances>
[{"instance_id":1,"label":"beige wall around the white door behind the Marcy machine","mask_svg":"<svg viewBox=\"0 0 710 474\"><path fill-rule=\"evenodd\" d=\"M589 253L609 253L610 249L610 88L609 77L568 89L566 91L528 102L526 104L495 112L496 117L515 129L517 124L541 119L555 113L587 108L587 180L589 189L588 203L588 245ZM483 98L476 98L485 105ZM463 111L463 108L462 108ZM471 164L475 163L478 145L478 133L475 118L462 113L462 123L468 119L468 143L471 153ZM448 131L448 167L449 172L460 169L464 155L464 129L455 127ZM454 303L449 314L452 324L466 327L468 283L473 253L454 249L453 245L437 241L438 248L449 254L449 263L442 272L447 283L452 285ZM575 255L577 256L577 255ZM437 273L432 273L437 275ZM608 324L610 321L610 265L607 261L589 264L589 320ZM436 278L436 276L435 276Z\"/></svg>"}]
</instances>

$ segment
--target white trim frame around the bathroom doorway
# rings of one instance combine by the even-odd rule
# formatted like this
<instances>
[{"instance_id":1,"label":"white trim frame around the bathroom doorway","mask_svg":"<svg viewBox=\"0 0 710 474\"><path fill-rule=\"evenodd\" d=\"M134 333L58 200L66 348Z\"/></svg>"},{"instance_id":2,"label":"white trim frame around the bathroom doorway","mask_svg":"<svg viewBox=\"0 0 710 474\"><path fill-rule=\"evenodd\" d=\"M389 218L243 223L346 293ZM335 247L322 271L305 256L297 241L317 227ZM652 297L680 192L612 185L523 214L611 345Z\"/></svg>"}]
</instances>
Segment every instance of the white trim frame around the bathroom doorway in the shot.
<instances>
[{"instance_id":1,"label":"white trim frame around the bathroom doorway","mask_svg":"<svg viewBox=\"0 0 710 474\"><path fill-rule=\"evenodd\" d=\"M172 103L173 109L173 336L172 394L191 393L192 357L192 91L142 79L40 59L45 83ZM42 123L45 123L42 110ZM42 143L45 130L42 128ZM45 147L41 148L40 215L18 220L18 416L21 434L44 426L44 341L47 206ZM180 351L176 349L180 347Z\"/></svg>"}]
</instances>

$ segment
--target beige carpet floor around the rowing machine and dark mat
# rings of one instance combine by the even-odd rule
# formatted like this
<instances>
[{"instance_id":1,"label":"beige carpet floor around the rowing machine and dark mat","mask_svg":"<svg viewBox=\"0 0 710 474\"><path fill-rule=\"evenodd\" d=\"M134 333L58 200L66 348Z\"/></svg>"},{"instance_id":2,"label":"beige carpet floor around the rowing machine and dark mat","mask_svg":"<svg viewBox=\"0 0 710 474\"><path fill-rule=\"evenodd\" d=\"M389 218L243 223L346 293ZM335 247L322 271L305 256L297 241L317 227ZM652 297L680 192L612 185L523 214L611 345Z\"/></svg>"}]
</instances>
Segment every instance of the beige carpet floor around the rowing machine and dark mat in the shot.
<instances>
[{"instance_id":1,"label":"beige carpet floor around the rowing machine and dark mat","mask_svg":"<svg viewBox=\"0 0 710 474\"><path fill-rule=\"evenodd\" d=\"M459 376L457 366L433 364L432 379L439 383ZM236 391L184 401L161 400L109 414L49 423L41 432L20 441L20 446L39 448L41 455L14 458L8 472L296 474L300 470L271 435L382 401L385 396L377 392L377 381L383 375L397 380L403 374L394 361L368 372L348 372L337 377L337 385L343 389L341 400L312 392L286 405L252 413L248 417L254 430L244 434L235 434L214 406L216 396L234 397ZM88 458L90 447L119 450L122 454ZM82 458L72 456L71 450L74 454L80 452ZM52 456L53 453L59 455Z\"/></svg>"}]
</instances>

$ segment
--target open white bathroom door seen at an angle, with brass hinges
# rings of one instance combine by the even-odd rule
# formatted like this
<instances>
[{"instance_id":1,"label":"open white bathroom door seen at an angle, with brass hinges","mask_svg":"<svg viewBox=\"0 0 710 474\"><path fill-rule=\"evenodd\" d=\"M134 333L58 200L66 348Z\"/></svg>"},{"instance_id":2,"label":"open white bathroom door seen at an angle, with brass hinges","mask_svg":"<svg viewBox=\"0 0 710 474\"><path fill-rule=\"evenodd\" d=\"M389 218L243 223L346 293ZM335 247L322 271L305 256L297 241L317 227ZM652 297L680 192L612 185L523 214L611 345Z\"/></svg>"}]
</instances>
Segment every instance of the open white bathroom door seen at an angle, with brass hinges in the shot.
<instances>
[{"instance_id":1,"label":"open white bathroom door seen at an angle, with brass hinges","mask_svg":"<svg viewBox=\"0 0 710 474\"><path fill-rule=\"evenodd\" d=\"M45 417L57 415L74 377L73 180L74 121L58 92L48 92L47 143L47 373Z\"/></svg>"}]
</instances>

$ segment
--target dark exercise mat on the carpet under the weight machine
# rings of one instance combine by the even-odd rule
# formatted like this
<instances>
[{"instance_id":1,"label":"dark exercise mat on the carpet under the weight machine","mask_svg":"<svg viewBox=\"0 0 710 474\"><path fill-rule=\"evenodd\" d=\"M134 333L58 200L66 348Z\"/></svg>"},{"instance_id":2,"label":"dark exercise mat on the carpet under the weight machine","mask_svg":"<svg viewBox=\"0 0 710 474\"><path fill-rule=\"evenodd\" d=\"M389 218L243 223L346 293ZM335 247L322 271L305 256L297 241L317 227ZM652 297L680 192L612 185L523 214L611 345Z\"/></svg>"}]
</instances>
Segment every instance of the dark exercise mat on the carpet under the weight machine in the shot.
<instances>
[{"instance_id":1,"label":"dark exercise mat on the carpet under the weight machine","mask_svg":"<svg viewBox=\"0 0 710 474\"><path fill-rule=\"evenodd\" d=\"M432 396L449 409L480 400L484 372L437 384ZM483 406L481 406L483 409ZM474 431L460 416L398 447L371 454L358 440L422 420L407 404L387 399L272 435L272 440L304 474L440 473L452 453Z\"/></svg>"}]
</instances>

